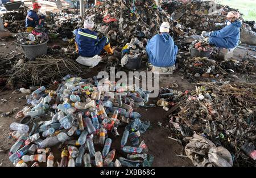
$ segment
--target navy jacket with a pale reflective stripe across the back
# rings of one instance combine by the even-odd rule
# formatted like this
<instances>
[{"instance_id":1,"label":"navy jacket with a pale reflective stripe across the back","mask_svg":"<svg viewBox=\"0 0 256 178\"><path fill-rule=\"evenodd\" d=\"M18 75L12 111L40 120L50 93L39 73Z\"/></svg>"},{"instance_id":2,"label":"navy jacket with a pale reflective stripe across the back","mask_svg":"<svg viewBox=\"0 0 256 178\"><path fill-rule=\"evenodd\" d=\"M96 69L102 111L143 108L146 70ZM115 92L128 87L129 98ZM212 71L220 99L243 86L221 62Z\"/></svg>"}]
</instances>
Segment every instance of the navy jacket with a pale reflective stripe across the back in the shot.
<instances>
[{"instance_id":1,"label":"navy jacket with a pale reflective stripe across the back","mask_svg":"<svg viewBox=\"0 0 256 178\"><path fill-rule=\"evenodd\" d=\"M98 43L97 32L86 28L79 28L75 29L73 33L76 36L75 40L79 47L80 56L90 57L101 53L101 50L96 46Z\"/></svg>"}]
</instances>

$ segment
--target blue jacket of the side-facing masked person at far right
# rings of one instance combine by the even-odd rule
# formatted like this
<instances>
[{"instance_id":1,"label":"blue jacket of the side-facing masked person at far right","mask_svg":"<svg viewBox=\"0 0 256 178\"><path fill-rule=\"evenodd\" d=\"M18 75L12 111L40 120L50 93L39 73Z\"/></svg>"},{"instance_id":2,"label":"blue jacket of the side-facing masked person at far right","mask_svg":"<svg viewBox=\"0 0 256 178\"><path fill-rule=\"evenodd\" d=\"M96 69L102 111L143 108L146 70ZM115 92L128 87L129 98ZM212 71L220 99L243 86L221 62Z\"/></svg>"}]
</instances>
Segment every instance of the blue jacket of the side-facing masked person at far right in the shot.
<instances>
[{"instance_id":1,"label":"blue jacket of the side-facing masked person at far right","mask_svg":"<svg viewBox=\"0 0 256 178\"><path fill-rule=\"evenodd\" d=\"M238 46L241 26L242 23L239 20L236 20L229 26L226 26L219 31L210 33L209 43L214 44L219 48L228 49Z\"/></svg>"}]
</instances>

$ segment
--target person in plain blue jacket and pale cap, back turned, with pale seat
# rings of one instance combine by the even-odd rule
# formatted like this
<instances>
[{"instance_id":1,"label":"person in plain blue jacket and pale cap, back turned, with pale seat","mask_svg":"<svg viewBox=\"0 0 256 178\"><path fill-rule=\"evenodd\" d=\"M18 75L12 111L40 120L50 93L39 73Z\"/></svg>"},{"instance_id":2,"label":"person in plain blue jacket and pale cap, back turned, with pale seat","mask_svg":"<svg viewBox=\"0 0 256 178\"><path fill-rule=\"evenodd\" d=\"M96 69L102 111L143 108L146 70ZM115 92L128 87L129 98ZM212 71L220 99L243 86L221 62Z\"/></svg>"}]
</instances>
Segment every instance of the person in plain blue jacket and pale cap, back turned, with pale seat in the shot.
<instances>
[{"instance_id":1,"label":"person in plain blue jacket and pale cap, back turned, with pale seat","mask_svg":"<svg viewBox=\"0 0 256 178\"><path fill-rule=\"evenodd\" d=\"M160 34L155 35L147 41L146 51L148 61L152 65L152 71L159 74L172 74L175 69L178 47L169 35L170 24L163 22L160 26Z\"/></svg>"}]
</instances>

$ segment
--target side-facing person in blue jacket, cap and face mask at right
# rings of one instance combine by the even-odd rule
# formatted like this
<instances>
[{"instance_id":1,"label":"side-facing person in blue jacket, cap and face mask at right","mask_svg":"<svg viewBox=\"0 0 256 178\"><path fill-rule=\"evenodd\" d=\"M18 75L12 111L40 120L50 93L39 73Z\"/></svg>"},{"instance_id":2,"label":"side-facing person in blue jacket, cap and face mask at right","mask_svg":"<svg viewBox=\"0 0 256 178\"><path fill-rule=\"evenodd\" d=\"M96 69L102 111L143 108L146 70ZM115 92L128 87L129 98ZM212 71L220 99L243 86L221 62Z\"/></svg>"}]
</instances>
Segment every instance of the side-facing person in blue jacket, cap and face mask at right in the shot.
<instances>
[{"instance_id":1,"label":"side-facing person in blue jacket, cap and face mask at right","mask_svg":"<svg viewBox=\"0 0 256 178\"><path fill-rule=\"evenodd\" d=\"M240 16L238 12L230 11L226 16L226 27L219 31L203 33L203 36L209 37L210 45L226 49L235 48L240 40L240 27L242 26L242 23L238 20Z\"/></svg>"}]
</instances>

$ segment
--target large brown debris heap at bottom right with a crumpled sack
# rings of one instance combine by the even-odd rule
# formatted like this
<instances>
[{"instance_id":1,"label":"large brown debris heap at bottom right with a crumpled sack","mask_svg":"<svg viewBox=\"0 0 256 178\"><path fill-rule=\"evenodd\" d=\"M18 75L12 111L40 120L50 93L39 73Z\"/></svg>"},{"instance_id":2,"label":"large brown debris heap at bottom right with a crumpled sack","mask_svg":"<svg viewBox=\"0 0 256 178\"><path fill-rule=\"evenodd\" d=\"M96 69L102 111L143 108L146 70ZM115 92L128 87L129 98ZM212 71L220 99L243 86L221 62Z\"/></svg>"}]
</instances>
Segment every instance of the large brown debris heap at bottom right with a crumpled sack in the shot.
<instances>
[{"instance_id":1,"label":"large brown debris heap at bottom right with a crumpled sack","mask_svg":"<svg viewBox=\"0 0 256 178\"><path fill-rule=\"evenodd\" d=\"M256 165L255 95L255 83L199 83L180 99L170 123L195 166Z\"/></svg>"}]
</instances>

